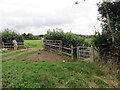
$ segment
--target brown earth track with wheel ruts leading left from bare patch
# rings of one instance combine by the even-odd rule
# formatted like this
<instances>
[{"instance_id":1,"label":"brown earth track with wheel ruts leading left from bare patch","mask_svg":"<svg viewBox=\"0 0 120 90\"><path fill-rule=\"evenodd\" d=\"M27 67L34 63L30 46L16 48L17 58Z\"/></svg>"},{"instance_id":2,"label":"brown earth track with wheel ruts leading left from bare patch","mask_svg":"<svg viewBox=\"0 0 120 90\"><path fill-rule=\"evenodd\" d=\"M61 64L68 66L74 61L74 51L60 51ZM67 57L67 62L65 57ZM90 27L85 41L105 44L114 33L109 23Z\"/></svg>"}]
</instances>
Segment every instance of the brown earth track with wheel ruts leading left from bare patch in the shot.
<instances>
[{"instance_id":1,"label":"brown earth track with wheel ruts leading left from bare patch","mask_svg":"<svg viewBox=\"0 0 120 90\"><path fill-rule=\"evenodd\" d=\"M36 49L36 48L27 48L27 49L21 49L21 50L12 50L11 52L8 53L4 53L2 55L5 54L10 54L16 51L24 51L24 52L20 52L18 54L15 55L11 55L11 56L7 56L4 57L0 60L8 60L8 59L15 59L17 56L31 52L31 51L39 51L39 53L34 53L34 54L29 54L29 55L25 55L22 56L22 60L28 60L28 61L60 61L62 62L64 59L61 55L57 55L55 53L49 52L49 51L45 51L45 50L40 50L40 49Z\"/></svg>"}]
</instances>

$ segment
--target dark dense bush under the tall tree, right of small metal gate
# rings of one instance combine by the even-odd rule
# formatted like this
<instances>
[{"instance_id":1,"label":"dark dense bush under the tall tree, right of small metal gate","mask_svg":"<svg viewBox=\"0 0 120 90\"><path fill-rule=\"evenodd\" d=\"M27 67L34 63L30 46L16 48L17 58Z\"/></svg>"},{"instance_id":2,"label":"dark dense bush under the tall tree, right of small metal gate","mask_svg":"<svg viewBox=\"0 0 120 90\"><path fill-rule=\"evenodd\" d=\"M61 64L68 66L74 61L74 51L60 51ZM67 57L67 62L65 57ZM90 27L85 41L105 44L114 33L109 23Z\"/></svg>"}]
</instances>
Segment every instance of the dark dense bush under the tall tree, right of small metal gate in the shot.
<instances>
[{"instance_id":1,"label":"dark dense bush under the tall tree, right of small metal gate","mask_svg":"<svg viewBox=\"0 0 120 90\"><path fill-rule=\"evenodd\" d=\"M114 33L115 42L109 34L97 33L94 37L94 45L102 56L118 57L120 53L120 32Z\"/></svg>"}]
</instances>

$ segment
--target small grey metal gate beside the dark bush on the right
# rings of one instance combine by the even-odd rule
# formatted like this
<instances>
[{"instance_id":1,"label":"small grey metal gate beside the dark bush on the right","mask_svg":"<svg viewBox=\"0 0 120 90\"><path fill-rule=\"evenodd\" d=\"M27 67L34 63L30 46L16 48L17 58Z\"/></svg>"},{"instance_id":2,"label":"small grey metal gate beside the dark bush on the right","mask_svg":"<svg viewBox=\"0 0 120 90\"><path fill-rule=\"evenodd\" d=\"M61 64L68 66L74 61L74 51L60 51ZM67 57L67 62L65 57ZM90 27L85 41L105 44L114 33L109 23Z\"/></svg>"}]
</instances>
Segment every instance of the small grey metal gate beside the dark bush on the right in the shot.
<instances>
[{"instance_id":1,"label":"small grey metal gate beside the dark bush on the right","mask_svg":"<svg viewBox=\"0 0 120 90\"><path fill-rule=\"evenodd\" d=\"M77 59L86 59L90 58L90 62L93 62L93 48L92 47L84 47L78 46L77 47Z\"/></svg>"}]
</instances>

